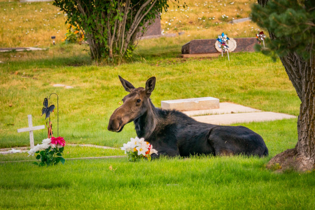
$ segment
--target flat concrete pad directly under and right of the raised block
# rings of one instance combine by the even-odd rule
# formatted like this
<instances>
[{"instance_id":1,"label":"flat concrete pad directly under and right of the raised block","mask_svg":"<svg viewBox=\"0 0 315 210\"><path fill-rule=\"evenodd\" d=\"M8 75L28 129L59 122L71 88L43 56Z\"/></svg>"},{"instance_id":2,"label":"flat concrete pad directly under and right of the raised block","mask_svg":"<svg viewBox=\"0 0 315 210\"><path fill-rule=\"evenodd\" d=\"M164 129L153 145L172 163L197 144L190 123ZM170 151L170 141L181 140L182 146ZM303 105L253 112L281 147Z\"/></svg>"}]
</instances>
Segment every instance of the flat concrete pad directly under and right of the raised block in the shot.
<instances>
[{"instance_id":1,"label":"flat concrete pad directly under and right of the raised block","mask_svg":"<svg viewBox=\"0 0 315 210\"><path fill-rule=\"evenodd\" d=\"M210 114L259 112L259 111L261 110L235 104L235 103L221 102L219 105L219 108L183 111L183 113L185 113L188 116L199 116L199 115L210 115Z\"/></svg>"}]
</instances>

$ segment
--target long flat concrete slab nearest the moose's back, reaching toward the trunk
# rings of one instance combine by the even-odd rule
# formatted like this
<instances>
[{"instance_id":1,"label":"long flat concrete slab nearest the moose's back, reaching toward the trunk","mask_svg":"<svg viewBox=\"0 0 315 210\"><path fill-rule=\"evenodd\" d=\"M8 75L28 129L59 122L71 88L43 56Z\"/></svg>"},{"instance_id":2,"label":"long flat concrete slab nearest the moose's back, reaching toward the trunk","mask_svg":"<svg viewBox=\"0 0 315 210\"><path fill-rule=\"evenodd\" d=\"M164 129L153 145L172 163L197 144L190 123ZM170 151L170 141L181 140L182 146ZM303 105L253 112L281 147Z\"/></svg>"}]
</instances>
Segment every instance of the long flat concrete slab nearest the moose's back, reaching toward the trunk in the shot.
<instances>
[{"instance_id":1,"label":"long flat concrete slab nearest the moose's back, reaching toward the trunk","mask_svg":"<svg viewBox=\"0 0 315 210\"><path fill-rule=\"evenodd\" d=\"M215 114L205 116L193 116L197 121L211 123L211 124L232 124L232 123L243 123L243 122L261 122L261 121L272 121L278 119L290 119L296 118L294 115L276 113L271 111L261 112L248 112L248 113L231 113L231 114Z\"/></svg>"}]
</instances>

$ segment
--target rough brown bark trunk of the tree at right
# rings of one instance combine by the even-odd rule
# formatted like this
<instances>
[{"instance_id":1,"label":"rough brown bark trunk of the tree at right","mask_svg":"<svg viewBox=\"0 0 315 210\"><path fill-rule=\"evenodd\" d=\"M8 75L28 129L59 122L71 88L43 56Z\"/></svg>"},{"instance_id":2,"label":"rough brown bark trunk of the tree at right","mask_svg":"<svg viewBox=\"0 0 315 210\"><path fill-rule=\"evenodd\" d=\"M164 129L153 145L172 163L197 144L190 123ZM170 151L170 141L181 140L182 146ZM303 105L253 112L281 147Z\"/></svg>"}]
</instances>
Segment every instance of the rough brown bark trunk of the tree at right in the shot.
<instances>
[{"instance_id":1,"label":"rough brown bark trunk of the tree at right","mask_svg":"<svg viewBox=\"0 0 315 210\"><path fill-rule=\"evenodd\" d=\"M257 1L262 6L268 2ZM272 31L268 32L271 40L276 38ZM310 51L311 47L306 46L305 50ZM297 119L298 139L294 148L272 157L267 167L278 163L280 170L311 170L315 168L315 56L311 55L310 60L305 60L293 52L280 57L280 60L301 100Z\"/></svg>"}]
</instances>

